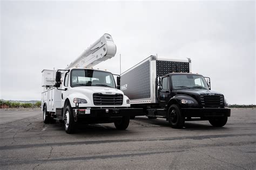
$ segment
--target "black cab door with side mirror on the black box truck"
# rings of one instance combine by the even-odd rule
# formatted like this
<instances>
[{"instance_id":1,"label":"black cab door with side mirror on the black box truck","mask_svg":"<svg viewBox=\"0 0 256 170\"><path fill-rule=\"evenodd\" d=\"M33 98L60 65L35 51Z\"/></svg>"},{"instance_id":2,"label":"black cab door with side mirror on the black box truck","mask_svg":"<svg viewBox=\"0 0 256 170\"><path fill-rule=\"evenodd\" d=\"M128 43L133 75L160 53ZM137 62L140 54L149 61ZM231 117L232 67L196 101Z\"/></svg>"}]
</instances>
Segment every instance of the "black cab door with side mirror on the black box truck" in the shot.
<instances>
[{"instance_id":1,"label":"black cab door with side mirror on the black box truck","mask_svg":"<svg viewBox=\"0 0 256 170\"><path fill-rule=\"evenodd\" d=\"M170 77L162 76L161 77L161 87L159 92L159 104L160 107L166 107L170 100Z\"/></svg>"}]
</instances>

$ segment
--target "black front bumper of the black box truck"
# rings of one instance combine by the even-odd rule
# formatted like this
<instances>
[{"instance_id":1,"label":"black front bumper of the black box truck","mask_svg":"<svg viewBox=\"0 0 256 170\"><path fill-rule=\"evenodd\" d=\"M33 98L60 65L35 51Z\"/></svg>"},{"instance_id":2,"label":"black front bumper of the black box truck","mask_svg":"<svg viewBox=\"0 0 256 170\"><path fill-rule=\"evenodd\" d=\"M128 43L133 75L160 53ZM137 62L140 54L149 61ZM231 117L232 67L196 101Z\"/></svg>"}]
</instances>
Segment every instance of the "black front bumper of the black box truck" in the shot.
<instances>
[{"instance_id":1,"label":"black front bumper of the black box truck","mask_svg":"<svg viewBox=\"0 0 256 170\"><path fill-rule=\"evenodd\" d=\"M227 108L181 108L185 117L230 117L231 109Z\"/></svg>"}]
</instances>

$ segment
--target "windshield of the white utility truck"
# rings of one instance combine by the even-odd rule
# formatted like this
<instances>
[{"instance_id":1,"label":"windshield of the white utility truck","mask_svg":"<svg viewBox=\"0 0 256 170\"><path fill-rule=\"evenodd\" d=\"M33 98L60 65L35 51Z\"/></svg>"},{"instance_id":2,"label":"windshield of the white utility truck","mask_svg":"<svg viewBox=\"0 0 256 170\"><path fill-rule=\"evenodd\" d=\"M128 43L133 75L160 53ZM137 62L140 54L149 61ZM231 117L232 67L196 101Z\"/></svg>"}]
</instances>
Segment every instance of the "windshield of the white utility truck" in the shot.
<instances>
[{"instance_id":1,"label":"windshield of the white utility truck","mask_svg":"<svg viewBox=\"0 0 256 170\"><path fill-rule=\"evenodd\" d=\"M92 69L73 69L70 77L71 87L101 86L116 88L113 75L109 72Z\"/></svg>"}]
</instances>

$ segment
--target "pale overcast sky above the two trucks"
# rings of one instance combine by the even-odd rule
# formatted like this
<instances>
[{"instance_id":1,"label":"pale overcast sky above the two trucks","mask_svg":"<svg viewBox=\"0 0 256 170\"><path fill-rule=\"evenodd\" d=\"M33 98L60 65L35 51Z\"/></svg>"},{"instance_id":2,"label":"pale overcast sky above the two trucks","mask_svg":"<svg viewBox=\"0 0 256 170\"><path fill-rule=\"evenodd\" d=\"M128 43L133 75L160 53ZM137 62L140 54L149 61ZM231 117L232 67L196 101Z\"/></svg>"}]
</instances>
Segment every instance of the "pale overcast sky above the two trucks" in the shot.
<instances>
[{"instance_id":1,"label":"pale overcast sky above the two trucks","mask_svg":"<svg viewBox=\"0 0 256 170\"><path fill-rule=\"evenodd\" d=\"M104 33L116 57L96 68L119 73L150 55L191 58L231 104L255 104L255 2L1 1L1 91L41 100L41 71L65 68Z\"/></svg>"}]
</instances>

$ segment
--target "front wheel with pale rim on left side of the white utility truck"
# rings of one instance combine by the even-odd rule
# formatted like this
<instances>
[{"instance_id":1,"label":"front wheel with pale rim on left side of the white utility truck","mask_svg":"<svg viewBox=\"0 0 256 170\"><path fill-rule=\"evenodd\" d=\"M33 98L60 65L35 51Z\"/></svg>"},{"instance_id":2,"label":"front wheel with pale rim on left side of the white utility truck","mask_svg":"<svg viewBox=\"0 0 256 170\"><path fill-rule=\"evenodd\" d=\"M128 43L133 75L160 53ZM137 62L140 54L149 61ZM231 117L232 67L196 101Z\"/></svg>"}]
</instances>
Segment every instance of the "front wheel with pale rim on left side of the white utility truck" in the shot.
<instances>
[{"instance_id":1,"label":"front wheel with pale rim on left side of the white utility truck","mask_svg":"<svg viewBox=\"0 0 256 170\"><path fill-rule=\"evenodd\" d=\"M64 128L66 133L74 133L75 132L75 119L73 117L73 111L70 105L67 105L64 112Z\"/></svg>"}]
</instances>

